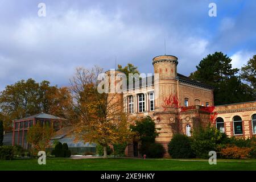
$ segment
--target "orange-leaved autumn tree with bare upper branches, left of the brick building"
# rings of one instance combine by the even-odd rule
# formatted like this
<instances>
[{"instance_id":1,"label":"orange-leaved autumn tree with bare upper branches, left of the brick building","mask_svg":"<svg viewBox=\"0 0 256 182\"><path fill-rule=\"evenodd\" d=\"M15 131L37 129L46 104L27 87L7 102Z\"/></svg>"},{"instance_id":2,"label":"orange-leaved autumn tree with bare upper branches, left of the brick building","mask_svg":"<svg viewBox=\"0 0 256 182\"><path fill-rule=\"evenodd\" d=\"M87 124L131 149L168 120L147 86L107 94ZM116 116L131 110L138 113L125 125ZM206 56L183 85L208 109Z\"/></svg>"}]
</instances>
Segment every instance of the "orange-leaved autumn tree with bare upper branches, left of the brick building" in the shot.
<instances>
[{"instance_id":1,"label":"orange-leaved autumn tree with bare upper branches, left of the brick building","mask_svg":"<svg viewBox=\"0 0 256 182\"><path fill-rule=\"evenodd\" d=\"M75 127L76 139L94 142L104 147L126 142L131 131L130 121L122 110L122 101L116 93L99 93L98 75L102 69L77 68L71 79L72 105L78 112L79 123Z\"/></svg>"}]
</instances>

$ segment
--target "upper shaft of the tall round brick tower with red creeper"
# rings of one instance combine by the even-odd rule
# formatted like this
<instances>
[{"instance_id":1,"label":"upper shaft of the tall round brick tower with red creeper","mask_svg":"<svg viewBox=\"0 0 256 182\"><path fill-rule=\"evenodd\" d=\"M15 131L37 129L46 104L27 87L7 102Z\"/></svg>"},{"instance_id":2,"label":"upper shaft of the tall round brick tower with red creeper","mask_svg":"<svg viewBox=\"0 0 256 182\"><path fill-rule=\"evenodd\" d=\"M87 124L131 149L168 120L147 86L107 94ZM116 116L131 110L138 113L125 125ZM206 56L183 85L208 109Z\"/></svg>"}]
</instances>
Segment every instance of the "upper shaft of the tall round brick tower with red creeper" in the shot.
<instances>
[{"instance_id":1,"label":"upper shaft of the tall round brick tower with red creeper","mask_svg":"<svg viewBox=\"0 0 256 182\"><path fill-rule=\"evenodd\" d=\"M155 111L165 111L166 107L177 107L177 57L156 56L152 60L155 73Z\"/></svg>"}]
</instances>

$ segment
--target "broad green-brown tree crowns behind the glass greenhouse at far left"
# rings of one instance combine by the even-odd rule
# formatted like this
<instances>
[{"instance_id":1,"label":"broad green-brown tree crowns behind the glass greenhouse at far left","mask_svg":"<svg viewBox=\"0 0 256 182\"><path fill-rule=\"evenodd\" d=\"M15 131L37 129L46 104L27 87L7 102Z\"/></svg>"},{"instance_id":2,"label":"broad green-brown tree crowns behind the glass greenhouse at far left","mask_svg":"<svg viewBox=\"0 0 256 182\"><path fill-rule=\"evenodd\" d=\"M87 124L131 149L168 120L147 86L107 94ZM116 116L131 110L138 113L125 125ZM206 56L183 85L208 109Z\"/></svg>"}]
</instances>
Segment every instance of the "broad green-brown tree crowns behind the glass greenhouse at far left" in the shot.
<instances>
[{"instance_id":1,"label":"broad green-brown tree crowns behind the glass greenhouse at far left","mask_svg":"<svg viewBox=\"0 0 256 182\"><path fill-rule=\"evenodd\" d=\"M4 122L5 130L11 130L11 121L14 119L42 111L64 117L64 113L70 110L67 103L71 100L71 95L67 89L58 89L57 86L49 84L48 81L37 83L30 78L6 86L0 94L0 118Z\"/></svg>"}]
</instances>

